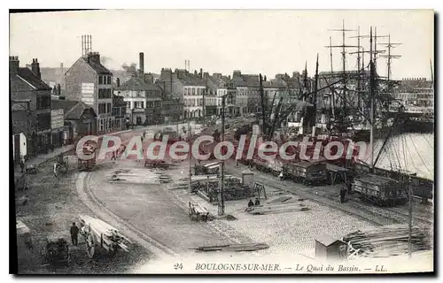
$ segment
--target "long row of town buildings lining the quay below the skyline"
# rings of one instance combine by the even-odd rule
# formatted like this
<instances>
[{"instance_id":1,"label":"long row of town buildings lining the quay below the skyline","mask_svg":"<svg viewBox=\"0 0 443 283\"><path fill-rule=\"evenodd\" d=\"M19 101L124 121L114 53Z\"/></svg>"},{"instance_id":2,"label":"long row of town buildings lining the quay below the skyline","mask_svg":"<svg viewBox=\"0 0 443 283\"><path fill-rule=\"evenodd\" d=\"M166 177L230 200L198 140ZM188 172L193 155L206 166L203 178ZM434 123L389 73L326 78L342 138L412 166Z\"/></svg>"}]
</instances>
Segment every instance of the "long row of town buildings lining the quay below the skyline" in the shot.
<instances>
[{"instance_id":1,"label":"long row of town buildings lining the quay below the skyline","mask_svg":"<svg viewBox=\"0 0 443 283\"><path fill-rule=\"evenodd\" d=\"M320 73L320 79L323 77L327 77L326 74ZM302 94L312 92L313 82L307 73L281 73L271 80L265 76L262 83L264 103L269 107L280 101L288 105L303 99ZM319 82L322 89L328 80ZM413 90L401 88L404 92L398 93L396 98L408 97L409 101L414 96L420 105L433 103L433 95L430 97L427 91L422 93L424 88L429 88L429 83L425 80L412 82L406 85L411 85ZM348 81L346 88L352 88L353 83ZM191 73L186 69L172 71L169 68L162 68L159 75L145 73L144 53L139 54L138 70L116 77L102 64L99 53L83 50L82 57L67 70L60 66L55 82L45 81L36 58L26 67L20 67L19 57L10 57L10 89L16 161L20 156L35 155L75 142L84 135L116 132L132 125L218 116L223 96L227 97L225 111L228 115L260 113L262 106L257 74L234 71L232 76L211 75L202 69ZM324 89L318 93L318 109L331 104L327 92ZM336 106L338 104L339 101Z\"/></svg>"}]
</instances>

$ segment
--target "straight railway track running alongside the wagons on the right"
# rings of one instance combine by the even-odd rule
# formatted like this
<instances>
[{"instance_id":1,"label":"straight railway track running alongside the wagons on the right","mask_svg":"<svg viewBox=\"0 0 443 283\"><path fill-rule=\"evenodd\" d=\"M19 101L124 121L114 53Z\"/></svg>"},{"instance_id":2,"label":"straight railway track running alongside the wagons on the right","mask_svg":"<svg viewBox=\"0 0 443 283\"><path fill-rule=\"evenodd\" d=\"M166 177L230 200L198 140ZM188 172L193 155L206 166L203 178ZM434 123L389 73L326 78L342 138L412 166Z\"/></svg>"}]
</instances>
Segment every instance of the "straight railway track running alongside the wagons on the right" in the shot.
<instances>
[{"instance_id":1,"label":"straight railway track running alongside the wagons on the right","mask_svg":"<svg viewBox=\"0 0 443 283\"><path fill-rule=\"evenodd\" d=\"M239 172L229 173L233 173L234 175L240 174ZM274 180L274 178L269 178L268 174L264 176L263 175L264 174L255 175L254 177L256 180L260 181L267 187L274 187L276 189L283 190L288 194L299 195L300 197L309 199L311 201L314 201L315 203L320 203L330 208L341 210L348 215L361 218L376 226L408 224L408 214L401 213L397 210L378 207L367 203L358 203L355 201L338 203L335 199L332 199L330 195L316 195L314 193L307 192L303 188L294 188L293 186L288 186L289 181L284 181L282 184L279 184L279 181ZM415 222L414 225L416 226L430 226L433 224L431 220L422 217L413 216L413 219Z\"/></svg>"}]
</instances>

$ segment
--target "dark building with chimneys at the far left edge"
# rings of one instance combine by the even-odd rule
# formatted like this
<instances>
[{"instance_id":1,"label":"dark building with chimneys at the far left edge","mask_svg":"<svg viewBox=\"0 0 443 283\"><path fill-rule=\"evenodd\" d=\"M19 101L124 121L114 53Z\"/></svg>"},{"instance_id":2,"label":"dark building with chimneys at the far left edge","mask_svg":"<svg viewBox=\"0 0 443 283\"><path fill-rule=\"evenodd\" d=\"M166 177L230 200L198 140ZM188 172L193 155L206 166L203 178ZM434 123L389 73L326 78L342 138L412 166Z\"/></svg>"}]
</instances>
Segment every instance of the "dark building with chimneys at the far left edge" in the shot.
<instances>
[{"instance_id":1,"label":"dark building with chimneys at the far left edge","mask_svg":"<svg viewBox=\"0 0 443 283\"><path fill-rule=\"evenodd\" d=\"M51 88L41 79L35 58L31 69L19 67L19 57L9 57L14 160L51 149ZM21 136L27 143L21 147ZM25 152L26 149L26 152Z\"/></svg>"}]
</instances>

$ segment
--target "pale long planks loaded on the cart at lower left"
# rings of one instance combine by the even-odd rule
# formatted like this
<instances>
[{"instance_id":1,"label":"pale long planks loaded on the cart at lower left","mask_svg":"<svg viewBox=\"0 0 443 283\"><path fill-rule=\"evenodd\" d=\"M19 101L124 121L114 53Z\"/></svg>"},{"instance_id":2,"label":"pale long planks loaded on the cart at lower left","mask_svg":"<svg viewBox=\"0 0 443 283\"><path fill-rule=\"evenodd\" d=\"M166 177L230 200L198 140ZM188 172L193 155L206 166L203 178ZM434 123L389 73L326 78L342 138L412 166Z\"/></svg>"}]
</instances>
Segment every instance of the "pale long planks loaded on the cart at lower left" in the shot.
<instances>
[{"instance_id":1,"label":"pale long planks loaded on the cart at lower left","mask_svg":"<svg viewBox=\"0 0 443 283\"><path fill-rule=\"evenodd\" d=\"M128 251L127 243L130 243L130 241L119 230L101 219L91 218L88 215L80 215L80 219L82 233L93 235L94 240L102 248L114 250L118 247Z\"/></svg>"}]
</instances>

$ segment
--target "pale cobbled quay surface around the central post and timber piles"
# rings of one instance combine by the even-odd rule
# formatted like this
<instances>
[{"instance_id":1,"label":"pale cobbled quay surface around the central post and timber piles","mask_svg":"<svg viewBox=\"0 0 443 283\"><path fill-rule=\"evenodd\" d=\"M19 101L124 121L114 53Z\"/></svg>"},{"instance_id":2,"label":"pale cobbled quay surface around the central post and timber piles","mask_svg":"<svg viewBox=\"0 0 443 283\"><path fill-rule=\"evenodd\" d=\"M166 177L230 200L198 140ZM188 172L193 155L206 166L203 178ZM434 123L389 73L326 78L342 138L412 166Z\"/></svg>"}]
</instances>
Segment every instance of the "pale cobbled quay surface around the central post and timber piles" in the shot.
<instances>
[{"instance_id":1,"label":"pale cobbled quay surface around the central post and timber piles","mask_svg":"<svg viewBox=\"0 0 443 283\"><path fill-rule=\"evenodd\" d=\"M184 164L183 164L184 165ZM173 175L181 177L180 172L186 168L177 169ZM189 195L185 189L173 191L183 200L189 200L206 207L214 216L217 215L217 206L207 203L198 195ZM268 200L287 195L283 190L267 188ZM298 196L290 195L297 199ZM305 200L304 204L310 210L285 212L269 215L252 215L245 212L248 200L225 202L225 213L237 220L215 219L212 225L219 226L232 238L239 241L265 242L269 249L256 251L256 254L276 255L281 253L304 253L312 256L315 238L327 233L338 239L346 233L354 232L361 227L372 226L369 222L354 218L340 210L333 210L327 206ZM261 200L263 203L264 200Z\"/></svg>"}]
</instances>

